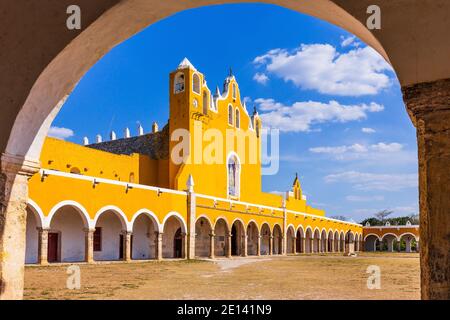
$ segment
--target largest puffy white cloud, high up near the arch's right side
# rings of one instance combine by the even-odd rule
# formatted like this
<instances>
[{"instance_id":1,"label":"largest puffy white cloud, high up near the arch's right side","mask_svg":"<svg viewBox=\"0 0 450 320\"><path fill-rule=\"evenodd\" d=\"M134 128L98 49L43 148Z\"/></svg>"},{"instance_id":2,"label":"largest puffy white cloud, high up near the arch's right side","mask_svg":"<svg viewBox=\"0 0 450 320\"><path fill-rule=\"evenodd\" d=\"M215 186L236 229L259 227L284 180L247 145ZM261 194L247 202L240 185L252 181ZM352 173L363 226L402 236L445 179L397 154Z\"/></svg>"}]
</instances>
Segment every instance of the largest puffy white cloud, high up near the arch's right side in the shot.
<instances>
[{"instance_id":1,"label":"largest puffy white cloud, high up near the arch's right side","mask_svg":"<svg viewBox=\"0 0 450 320\"><path fill-rule=\"evenodd\" d=\"M341 96L375 95L392 81L392 67L372 48L339 53L329 44L302 44L292 52L273 49L253 61L303 89Z\"/></svg>"}]
</instances>

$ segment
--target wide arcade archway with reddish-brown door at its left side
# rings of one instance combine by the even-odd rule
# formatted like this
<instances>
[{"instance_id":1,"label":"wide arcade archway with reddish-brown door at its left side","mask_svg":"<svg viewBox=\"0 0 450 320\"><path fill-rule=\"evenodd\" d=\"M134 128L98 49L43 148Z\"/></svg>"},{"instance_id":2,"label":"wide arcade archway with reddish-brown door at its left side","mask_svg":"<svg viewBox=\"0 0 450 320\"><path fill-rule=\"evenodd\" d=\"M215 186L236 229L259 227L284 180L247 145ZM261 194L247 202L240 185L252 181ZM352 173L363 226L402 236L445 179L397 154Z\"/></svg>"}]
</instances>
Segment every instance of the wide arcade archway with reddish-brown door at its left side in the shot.
<instances>
[{"instance_id":1,"label":"wide arcade archway with reddish-brown door at its left side","mask_svg":"<svg viewBox=\"0 0 450 320\"><path fill-rule=\"evenodd\" d=\"M89 228L79 208L64 205L50 217L47 259L52 262L81 262L86 259L86 234Z\"/></svg>"}]
</instances>

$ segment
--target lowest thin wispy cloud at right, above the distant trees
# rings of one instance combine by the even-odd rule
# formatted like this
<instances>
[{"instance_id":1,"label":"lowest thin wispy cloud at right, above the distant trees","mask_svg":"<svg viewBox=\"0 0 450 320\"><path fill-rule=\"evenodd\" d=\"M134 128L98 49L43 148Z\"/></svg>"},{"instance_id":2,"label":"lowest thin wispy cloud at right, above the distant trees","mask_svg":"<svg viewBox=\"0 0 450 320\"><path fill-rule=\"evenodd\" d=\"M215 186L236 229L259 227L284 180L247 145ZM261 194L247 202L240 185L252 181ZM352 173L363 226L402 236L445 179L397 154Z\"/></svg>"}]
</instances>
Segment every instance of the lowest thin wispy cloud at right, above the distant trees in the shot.
<instances>
[{"instance_id":1,"label":"lowest thin wispy cloud at right, above the distant trees","mask_svg":"<svg viewBox=\"0 0 450 320\"><path fill-rule=\"evenodd\" d=\"M330 174L325 177L326 183L349 183L353 188L362 191L383 190L399 191L406 188L417 188L417 174L377 174L357 171L346 171Z\"/></svg>"}]
</instances>

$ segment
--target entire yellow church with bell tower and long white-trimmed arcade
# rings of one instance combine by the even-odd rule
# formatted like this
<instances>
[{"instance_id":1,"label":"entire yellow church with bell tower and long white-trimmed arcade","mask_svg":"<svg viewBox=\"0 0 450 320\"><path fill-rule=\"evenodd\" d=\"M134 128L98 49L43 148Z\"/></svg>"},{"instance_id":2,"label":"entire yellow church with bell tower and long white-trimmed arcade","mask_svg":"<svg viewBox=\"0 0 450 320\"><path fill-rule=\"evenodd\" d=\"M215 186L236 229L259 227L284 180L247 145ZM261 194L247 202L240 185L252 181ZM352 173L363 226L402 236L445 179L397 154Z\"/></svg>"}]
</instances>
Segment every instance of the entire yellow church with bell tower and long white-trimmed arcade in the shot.
<instances>
[{"instance_id":1,"label":"entire yellow church with bell tower and long white-trimmed arcade","mask_svg":"<svg viewBox=\"0 0 450 320\"><path fill-rule=\"evenodd\" d=\"M26 262L352 252L363 227L261 186L263 124L230 74L212 92L187 60L163 129L78 145L47 138L30 179Z\"/></svg>"}]
</instances>

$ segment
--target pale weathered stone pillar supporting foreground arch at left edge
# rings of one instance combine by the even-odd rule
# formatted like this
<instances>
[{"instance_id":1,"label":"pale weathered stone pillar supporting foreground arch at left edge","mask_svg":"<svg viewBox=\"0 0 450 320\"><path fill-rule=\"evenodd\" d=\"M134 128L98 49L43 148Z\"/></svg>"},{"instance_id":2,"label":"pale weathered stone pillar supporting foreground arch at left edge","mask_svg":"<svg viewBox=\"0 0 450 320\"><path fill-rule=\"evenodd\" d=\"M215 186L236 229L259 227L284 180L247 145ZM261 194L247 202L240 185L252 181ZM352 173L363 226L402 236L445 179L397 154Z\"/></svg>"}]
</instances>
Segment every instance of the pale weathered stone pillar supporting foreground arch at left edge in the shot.
<instances>
[{"instance_id":1,"label":"pale weathered stone pillar supporting foreground arch at left edge","mask_svg":"<svg viewBox=\"0 0 450 320\"><path fill-rule=\"evenodd\" d=\"M0 300L23 298L28 179L39 163L3 154L0 171Z\"/></svg>"}]
</instances>

